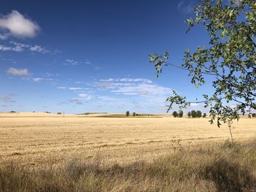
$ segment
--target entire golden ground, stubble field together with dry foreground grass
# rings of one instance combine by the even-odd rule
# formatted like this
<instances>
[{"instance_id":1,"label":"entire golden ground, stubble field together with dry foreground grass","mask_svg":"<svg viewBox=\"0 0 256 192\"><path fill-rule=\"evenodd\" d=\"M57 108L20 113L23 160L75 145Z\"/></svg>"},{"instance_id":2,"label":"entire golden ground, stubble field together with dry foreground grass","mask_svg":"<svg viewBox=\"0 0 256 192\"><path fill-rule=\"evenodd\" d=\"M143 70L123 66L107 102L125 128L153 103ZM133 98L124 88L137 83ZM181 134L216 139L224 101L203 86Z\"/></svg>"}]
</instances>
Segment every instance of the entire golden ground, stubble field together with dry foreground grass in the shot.
<instances>
[{"instance_id":1,"label":"entire golden ground, stubble field together with dry foreground grass","mask_svg":"<svg viewBox=\"0 0 256 192\"><path fill-rule=\"evenodd\" d=\"M0 191L255 191L256 119L208 120L0 114Z\"/></svg>"}]
</instances>

